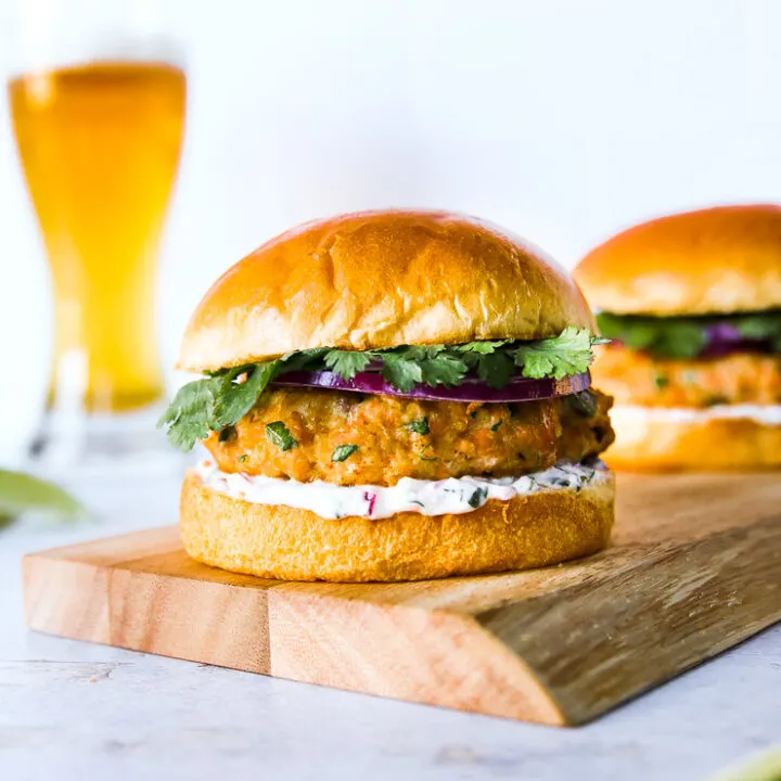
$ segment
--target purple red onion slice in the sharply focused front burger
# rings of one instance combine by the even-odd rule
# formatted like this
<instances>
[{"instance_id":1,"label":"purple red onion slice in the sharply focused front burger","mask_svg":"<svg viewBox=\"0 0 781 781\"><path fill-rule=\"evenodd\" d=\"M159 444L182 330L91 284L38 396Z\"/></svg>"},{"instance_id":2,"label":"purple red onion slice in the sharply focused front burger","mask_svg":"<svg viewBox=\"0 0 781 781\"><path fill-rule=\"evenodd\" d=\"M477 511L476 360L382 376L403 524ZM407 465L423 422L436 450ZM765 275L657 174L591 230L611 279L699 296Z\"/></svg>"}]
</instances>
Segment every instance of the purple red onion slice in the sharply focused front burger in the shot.
<instances>
[{"instance_id":1,"label":"purple red onion slice in the sharply focused front burger","mask_svg":"<svg viewBox=\"0 0 781 781\"><path fill-rule=\"evenodd\" d=\"M537 399L566 396L580 393L591 385L588 372L573 374L561 380L528 380L513 377L501 389L488 387L482 380L466 377L456 387L418 384L411 390L399 390L383 380L379 372L359 372L353 380L344 380L330 371L287 372L273 380L274 385L290 387L324 387L334 390L402 396L405 398L431 399L435 401L484 401L501 404L508 401L535 401Z\"/></svg>"}]
</instances>

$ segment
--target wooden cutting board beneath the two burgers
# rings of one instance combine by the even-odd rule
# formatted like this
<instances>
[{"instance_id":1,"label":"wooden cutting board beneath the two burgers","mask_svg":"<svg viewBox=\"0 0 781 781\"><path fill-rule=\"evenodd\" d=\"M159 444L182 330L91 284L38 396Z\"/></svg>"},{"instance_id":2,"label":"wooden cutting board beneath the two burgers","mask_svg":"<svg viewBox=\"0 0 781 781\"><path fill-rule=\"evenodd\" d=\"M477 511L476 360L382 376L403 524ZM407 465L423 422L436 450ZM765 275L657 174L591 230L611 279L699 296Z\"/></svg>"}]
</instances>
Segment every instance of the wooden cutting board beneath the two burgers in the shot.
<instances>
[{"instance_id":1,"label":"wooden cutting board beneath the two burgers","mask_svg":"<svg viewBox=\"0 0 781 781\"><path fill-rule=\"evenodd\" d=\"M613 546L526 573L261 580L166 527L28 555L24 579L40 631L575 725L781 619L781 475L620 475Z\"/></svg>"}]
</instances>

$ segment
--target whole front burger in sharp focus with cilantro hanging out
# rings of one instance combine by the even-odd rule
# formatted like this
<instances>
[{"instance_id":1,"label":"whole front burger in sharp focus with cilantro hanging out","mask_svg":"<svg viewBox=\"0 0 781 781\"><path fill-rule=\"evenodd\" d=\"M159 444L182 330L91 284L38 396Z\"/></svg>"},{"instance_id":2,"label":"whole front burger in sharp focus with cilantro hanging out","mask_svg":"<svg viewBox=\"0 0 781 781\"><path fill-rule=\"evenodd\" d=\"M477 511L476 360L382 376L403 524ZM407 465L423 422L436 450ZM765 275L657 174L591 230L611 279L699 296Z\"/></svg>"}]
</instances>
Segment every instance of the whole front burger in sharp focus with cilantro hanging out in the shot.
<instances>
[{"instance_id":1,"label":"whole front burger in sharp focus with cilantro hanging out","mask_svg":"<svg viewBox=\"0 0 781 781\"><path fill-rule=\"evenodd\" d=\"M188 553L297 580L409 580L603 548L610 397L591 311L536 247L472 218L310 222L195 310L161 420L208 457L181 495Z\"/></svg>"}]
</instances>

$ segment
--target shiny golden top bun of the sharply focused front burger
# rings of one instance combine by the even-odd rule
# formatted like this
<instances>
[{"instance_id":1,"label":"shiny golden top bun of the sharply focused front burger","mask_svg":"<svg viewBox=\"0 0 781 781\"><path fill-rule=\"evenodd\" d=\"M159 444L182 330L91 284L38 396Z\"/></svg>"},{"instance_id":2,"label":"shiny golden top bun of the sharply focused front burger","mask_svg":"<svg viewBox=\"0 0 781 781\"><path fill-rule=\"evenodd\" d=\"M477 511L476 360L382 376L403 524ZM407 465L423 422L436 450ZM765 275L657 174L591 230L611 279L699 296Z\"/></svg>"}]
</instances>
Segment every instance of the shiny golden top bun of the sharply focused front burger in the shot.
<instances>
[{"instance_id":1,"label":"shiny golden top bun of the sharply focused front burger","mask_svg":"<svg viewBox=\"0 0 781 781\"><path fill-rule=\"evenodd\" d=\"M179 367L542 338L567 325L593 330L589 307L532 244L446 212L363 212L294 228L226 271L190 320Z\"/></svg>"}]
</instances>

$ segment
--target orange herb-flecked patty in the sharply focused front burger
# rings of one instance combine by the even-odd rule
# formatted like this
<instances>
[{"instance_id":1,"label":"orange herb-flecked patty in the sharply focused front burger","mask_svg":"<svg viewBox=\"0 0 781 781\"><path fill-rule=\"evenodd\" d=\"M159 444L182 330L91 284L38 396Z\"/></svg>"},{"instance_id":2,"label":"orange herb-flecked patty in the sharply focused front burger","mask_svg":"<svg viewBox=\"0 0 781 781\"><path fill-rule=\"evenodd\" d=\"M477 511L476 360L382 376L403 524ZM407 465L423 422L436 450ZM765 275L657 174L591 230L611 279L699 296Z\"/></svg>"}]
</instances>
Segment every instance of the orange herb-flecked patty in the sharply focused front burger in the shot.
<instances>
[{"instance_id":1,"label":"orange herb-flecked patty in the sharply focused front burger","mask_svg":"<svg viewBox=\"0 0 781 781\"><path fill-rule=\"evenodd\" d=\"M280 387L204 444L223 472L303 483L503 477L598 456L614 439L611 405L598 390L471 404Z\"/></svg>"}]
</instances>

